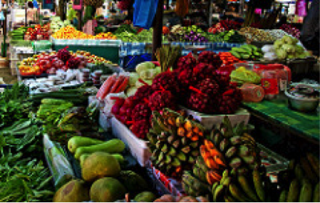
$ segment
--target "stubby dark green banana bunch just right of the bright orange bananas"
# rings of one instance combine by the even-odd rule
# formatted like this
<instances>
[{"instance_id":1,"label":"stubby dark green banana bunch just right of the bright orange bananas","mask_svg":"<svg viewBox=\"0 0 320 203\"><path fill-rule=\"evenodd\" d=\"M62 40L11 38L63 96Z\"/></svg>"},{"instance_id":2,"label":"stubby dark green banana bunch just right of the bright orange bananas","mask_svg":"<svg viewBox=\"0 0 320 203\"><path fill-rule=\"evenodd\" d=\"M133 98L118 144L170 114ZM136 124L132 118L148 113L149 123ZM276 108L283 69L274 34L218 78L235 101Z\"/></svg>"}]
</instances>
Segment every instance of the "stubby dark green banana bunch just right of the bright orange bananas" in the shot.
<instances>
[{"instance_id":1,"label":"stubby dark green banana bunch just right of the bright orange bananas","mask_svg":"<svg viewBox=\"0 0 320 203\"><path fill-rule=\"evenodd\" d=\"M210 133L210 140L214 145L210 152L211 157L215 157L215 164L204 157L207 166L215 170L216 166L227 165L226 167L236 168L240 173L244 173L261 165L259 148L254 138L245 131L244 123L232 127L229 118L225 117L222 124L215 127ZM212 147L212 145L207 147ZM201 152L202 148L204 147L200 147Z\"/></svg>"}]
</instances>

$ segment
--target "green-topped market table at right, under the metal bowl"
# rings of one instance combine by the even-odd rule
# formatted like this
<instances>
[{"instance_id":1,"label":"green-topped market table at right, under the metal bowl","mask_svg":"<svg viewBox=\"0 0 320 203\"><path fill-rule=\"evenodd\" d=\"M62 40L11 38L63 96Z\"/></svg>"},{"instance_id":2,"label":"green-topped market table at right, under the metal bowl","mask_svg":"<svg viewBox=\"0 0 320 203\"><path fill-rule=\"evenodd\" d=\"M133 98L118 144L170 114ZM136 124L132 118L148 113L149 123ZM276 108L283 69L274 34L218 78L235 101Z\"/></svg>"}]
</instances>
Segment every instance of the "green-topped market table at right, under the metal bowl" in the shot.
<instances>
[{"instance_id":1,"label":"green-topped market table at right, under the metal bowl","mask_svg":"<svg viewBox=\"0 0 320 203\"><path fill-rule=\"evenodd\" d=\"M287 100L244 103L244 108L252 115L250 123L256 127L255 137L267 140L274 150L294 154L296 147L319 149L320 108L316 113L301 113L291 110Z\"/></svg>"}]
</instances>

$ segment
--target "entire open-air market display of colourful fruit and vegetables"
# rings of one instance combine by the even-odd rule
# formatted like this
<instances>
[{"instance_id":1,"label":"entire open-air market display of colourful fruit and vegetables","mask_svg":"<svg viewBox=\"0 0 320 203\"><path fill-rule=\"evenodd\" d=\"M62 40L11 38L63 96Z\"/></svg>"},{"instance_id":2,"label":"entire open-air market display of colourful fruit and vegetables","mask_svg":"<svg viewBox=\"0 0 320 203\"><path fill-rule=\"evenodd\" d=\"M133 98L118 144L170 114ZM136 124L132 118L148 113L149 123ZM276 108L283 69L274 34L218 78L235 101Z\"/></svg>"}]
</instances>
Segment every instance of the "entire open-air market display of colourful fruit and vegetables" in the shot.
<instances>
[{"instance_id":1,"label":"entire open-air market display of colourful fruit and vegetables","mask_svg":"<svg viewBox=\"0 0 320 203\"><path fill-rule=\"evenodd\" d=\"M47 26L10 34L0 202L320 202L319 78L295 36Z\"/></svg>"}]
</instances>

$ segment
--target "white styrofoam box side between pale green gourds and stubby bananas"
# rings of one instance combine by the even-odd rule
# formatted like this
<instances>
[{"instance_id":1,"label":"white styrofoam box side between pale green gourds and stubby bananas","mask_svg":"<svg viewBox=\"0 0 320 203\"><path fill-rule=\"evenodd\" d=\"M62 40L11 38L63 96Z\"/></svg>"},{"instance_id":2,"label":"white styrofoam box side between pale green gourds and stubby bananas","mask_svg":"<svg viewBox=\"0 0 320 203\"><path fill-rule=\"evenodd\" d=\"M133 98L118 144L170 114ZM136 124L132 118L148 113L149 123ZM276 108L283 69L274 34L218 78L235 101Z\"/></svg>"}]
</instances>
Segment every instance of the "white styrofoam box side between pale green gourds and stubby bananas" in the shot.
<instances>
[{"instance_id":1,"label":"white styrofoam box side between pale green gourds and stubby bananas","mask_svg":"<svg viewBox=\"0 0 320 203\"><path fill-rule=\"evenodd\" d=\"M133 157L138 160L142 167L145 167L151 156L151 152L147 146L148 142L135 137L128 127L114 117L111 118L111 127L113 135L125 142Z\"/></svg>"}]
</instances>

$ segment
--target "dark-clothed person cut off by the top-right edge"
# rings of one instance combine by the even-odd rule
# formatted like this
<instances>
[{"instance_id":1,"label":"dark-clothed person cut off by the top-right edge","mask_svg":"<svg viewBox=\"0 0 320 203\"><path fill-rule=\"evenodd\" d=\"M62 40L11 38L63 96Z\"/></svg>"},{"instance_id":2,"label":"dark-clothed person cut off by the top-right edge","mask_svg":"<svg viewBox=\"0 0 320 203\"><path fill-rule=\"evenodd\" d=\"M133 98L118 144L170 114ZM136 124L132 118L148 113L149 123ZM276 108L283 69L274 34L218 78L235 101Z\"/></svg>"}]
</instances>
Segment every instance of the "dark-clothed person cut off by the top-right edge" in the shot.
<instances>
[{"instance_id":1,"label":"dark-clothed person cut off by the top-right edge","mask_svg":"<svg viewBox=\"0 0 320 203\"><path fill-rule=\"evenodd\" d=\"M315 56L320 56L320 0L311 3L308 14L304 18L301 31L301 43Z\"/></svg>"}]
</instances>

